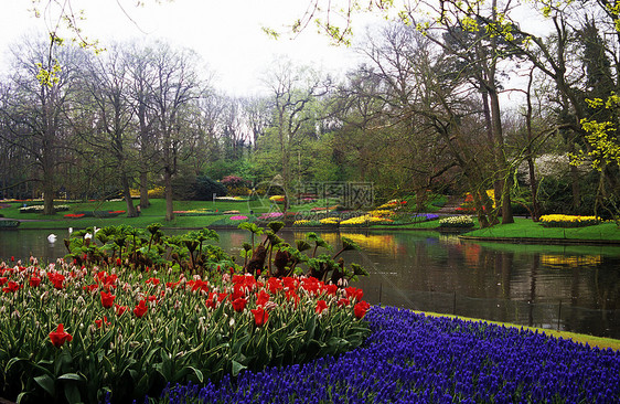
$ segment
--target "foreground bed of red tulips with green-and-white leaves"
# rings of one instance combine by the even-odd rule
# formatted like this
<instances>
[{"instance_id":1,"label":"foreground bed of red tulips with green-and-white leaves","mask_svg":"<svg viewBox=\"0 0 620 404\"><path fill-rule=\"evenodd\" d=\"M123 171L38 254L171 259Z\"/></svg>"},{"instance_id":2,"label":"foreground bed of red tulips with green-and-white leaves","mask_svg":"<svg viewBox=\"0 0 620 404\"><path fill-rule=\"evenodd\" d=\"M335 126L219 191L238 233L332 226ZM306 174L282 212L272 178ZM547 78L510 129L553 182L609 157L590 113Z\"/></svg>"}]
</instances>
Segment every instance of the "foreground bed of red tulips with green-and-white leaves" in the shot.
<instances>
[{"instance_id":1,"label":"foreground bed of red tulips with green-and-white leaves","mask_svg":"<svg viewBox=\"0 0 620 404\"><path fill-rule=\"evenodd\" d=\"M218 274L2 263L0 396L141 400L167 382L338 355L368 333L361 289Z\"/></svg>"}]
</instances>

